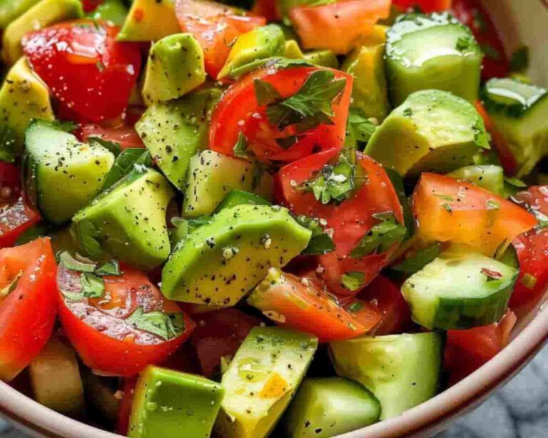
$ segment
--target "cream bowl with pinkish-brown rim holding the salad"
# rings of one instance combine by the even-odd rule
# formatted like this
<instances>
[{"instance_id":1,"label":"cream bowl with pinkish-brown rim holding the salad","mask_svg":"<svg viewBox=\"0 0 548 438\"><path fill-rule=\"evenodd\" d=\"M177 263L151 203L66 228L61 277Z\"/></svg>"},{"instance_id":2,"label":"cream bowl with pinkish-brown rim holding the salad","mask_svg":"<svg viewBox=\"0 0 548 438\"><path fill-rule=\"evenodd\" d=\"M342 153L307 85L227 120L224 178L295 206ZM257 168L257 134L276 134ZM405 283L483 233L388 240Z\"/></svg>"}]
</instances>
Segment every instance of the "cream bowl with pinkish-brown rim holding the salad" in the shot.
<instances>
[{"instance_id":1,"label":"cream bowl with pinkish-brown rim holding the salad","mask_svg":"<svg viewBox=\"0 0 548 438\"><path fill-rule=\"evenodd\" d=\"M484 0L499 29L507 52L521 44L531 48L529 74L548 86L548 0ZM548 295L548 294L547 294ZM477 407L510 380L548 341L548 306L543 300L520 315L512 342L465 380L410 409L399 417L341 435L340 438L430 437L457 417ZM16 347L16 346L14 346ZM34 437L116 438L119 435L64 417L0 382L0 414Z\"/></svg>"}]
</instances>

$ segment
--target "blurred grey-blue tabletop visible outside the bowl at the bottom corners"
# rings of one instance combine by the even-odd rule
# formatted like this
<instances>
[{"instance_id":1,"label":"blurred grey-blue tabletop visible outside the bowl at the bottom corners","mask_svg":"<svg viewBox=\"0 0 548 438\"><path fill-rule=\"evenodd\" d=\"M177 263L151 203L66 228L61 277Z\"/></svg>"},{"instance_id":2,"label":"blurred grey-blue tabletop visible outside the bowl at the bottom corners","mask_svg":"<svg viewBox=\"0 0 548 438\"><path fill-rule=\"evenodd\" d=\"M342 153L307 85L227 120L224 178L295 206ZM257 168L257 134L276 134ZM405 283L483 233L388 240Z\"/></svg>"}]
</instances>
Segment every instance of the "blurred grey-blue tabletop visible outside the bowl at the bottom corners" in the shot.
<instances>
[{"instance_id":1,"label":"blurred grey-blue tabletop visible outside the bowl at the bottom corners","mask_svg":"<svg viewBox=\"0 0 548 438\"><path fill-rule=\"evenodd\" d=\"M548 347L480 408L458 419L437 438L492 437L548 437ZM9 428L0 438L27 437Z\"/></svg>"}]
</instances>

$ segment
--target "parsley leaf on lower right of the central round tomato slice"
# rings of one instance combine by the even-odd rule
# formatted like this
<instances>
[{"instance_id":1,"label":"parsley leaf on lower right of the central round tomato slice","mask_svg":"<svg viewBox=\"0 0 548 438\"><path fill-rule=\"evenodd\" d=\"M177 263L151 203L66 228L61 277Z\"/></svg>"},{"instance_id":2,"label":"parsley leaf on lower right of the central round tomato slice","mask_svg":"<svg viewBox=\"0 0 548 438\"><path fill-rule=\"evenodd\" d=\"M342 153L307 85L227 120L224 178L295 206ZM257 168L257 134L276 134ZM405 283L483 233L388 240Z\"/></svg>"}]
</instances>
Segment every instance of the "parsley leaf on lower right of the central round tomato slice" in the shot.
<instances>
[{"instance_id":1,"label":"parsley leaf on lower right of the central round tomato slice","mask_svg":"<svg viewBox=\"0 0 548 438\"><path fill-rule=\"evenodd\" d=\"M393 213L378 213L373 215L381 220L362 237L350 253L352 258L360 258L372 253L385 253L395 243L400 243L405 237L405 226L397 222Z\"/></svg>"}]
</instances>

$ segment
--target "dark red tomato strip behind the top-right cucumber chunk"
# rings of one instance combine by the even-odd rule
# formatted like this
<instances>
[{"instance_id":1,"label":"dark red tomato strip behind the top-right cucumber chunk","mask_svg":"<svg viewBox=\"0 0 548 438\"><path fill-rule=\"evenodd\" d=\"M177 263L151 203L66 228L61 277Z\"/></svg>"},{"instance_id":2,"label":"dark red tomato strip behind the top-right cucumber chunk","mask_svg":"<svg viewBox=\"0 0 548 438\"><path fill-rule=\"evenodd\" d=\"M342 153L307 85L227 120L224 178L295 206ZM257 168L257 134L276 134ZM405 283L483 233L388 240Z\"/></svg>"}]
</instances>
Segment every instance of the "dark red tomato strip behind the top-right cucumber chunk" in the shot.
<instances>
[{"instance_id":1,"label":"dark red tomato strip behind the top-right cucumber chunk","mask_svg":"<svg viewBox=\"0 0 548 438\"><path fill-rule=\"evenodd\" d=\"M497 28L479 0L453 0L452 13L472 29L484 51L482 78L504 78L510 64Z\"/></svg>"}]
</instances>

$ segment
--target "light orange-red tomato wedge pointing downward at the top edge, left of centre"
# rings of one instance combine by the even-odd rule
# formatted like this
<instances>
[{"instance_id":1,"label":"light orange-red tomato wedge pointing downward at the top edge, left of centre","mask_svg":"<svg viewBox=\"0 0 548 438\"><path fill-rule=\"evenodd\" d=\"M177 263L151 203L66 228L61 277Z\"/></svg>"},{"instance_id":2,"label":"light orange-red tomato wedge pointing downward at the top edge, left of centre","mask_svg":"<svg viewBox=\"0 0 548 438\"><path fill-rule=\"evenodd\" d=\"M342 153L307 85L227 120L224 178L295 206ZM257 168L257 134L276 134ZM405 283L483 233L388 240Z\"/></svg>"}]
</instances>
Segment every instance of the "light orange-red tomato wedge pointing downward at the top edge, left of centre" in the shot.
<instances>
[{"instance_id":1,"label":"light orange-red tomato wedge pointing downward at the top edge, left of centre","mask_svg":"<svg viewBox=\"0 0 548 438\"><path fill-rule=\"evenodd\" d=\"M203 49L205 71L217 78L233 41L255 27L264 26L263 16L208 0L176 0L175 10L183 32L189 32Z\"/></svg>"}]
</instances>

